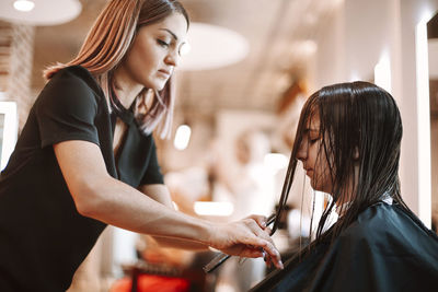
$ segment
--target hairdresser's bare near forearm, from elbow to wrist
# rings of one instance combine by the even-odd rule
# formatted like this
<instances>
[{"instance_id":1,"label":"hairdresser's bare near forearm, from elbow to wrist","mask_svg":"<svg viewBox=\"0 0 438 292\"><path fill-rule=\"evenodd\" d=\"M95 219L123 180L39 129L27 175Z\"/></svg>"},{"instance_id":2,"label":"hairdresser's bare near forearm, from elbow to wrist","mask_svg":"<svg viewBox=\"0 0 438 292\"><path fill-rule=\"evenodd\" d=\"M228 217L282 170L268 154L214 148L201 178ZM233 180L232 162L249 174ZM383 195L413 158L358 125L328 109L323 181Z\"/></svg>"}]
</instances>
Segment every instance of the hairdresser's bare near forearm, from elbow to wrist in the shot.
<instances>
[{"instance_id":1,"label":"hairdresser's bare near forearm, from elbow to wrist","mask_svg":"<svg viewBox=\"0 0 438 292\"><path fill-rule=\"evenodd\" d=\"M81 214L134 232L210 244L212 224L176 212L110 176L79 190Z\"/></svg>"}]
</instances>

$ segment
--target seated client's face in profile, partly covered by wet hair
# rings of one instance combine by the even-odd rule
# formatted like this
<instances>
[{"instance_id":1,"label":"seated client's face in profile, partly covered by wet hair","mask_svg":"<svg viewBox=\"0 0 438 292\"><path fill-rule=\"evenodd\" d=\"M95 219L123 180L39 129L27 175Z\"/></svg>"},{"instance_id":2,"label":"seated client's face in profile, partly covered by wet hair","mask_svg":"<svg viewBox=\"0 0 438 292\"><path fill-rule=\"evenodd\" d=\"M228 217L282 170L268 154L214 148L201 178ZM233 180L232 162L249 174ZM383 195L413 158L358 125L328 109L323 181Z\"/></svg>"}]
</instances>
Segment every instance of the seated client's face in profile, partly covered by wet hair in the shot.
<instances>
[{"instance_id":1,"label":"seated client's face in profile, partly covered by wet hair","mask_svg":"<svg viewBox=\"0 0 438 292\"><path fill-rule=\"evenodd\" d=\"M302 142L297 153L297 159L302 162L306 174L310 178L314 190L332 192L332 179L325 151L322 147L320 133L320 118L318 115L309 120L302 136Z\"/></svg>"}]
</instances>

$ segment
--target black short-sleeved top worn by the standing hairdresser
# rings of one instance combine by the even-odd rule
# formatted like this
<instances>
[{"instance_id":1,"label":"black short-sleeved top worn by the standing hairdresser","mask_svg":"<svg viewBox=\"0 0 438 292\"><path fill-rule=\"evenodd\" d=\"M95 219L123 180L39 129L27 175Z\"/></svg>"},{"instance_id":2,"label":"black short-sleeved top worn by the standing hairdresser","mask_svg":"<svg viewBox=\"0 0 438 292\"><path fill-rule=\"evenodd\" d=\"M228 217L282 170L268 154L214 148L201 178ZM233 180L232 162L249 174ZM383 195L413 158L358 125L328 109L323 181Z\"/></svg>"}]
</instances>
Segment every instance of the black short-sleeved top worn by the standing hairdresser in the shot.
<instances>
[{"instance_id":1,"label":"black short-sleeved top worn by the standing hairdresser","mask_svg":"<svg viewBox=\"0 0 438 292\"><path fill-rule=\"evenodd\" d=\"M78 213L53 144L95 143L111 176L132 187L163 183L152 137L132 114L124 120L115 160L114 118L90 72L69 67L44 87L0 176L0 291L66 291L106 226Z\"/></svg>"}]
</instances>

